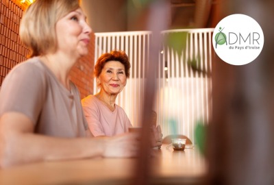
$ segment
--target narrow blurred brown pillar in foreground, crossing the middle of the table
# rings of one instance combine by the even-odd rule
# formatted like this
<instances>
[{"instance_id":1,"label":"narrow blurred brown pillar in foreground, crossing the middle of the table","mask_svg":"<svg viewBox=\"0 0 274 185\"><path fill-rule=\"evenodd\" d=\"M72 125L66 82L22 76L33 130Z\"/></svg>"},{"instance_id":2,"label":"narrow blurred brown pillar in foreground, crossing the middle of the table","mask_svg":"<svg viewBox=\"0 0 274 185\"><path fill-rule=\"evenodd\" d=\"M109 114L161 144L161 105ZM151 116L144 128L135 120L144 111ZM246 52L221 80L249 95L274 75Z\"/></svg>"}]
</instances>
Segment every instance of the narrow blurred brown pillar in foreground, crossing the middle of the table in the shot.
<instances>
[{"instance_id":1,"label":"narrow blurred brown pillar in foreground, crossing the middle of the table","mask_svg":"<svg viewBox=\"0 0 274 185\"><path fill-rule=\"evenodd\" d=\"M145 103L142 107L142 133L140 137L140 153L134 174L134 185L151 184L151 114L155 99L156 70L158 69L158 58L160 55L160 45L162 38L160 32L168 29L170 9L168 1L147 0L149 16L147 20L147 30L152 32L149 40L149 62L145 71ZM131 185L132 185L131 184Z\"/></svg>"}]
</instances>

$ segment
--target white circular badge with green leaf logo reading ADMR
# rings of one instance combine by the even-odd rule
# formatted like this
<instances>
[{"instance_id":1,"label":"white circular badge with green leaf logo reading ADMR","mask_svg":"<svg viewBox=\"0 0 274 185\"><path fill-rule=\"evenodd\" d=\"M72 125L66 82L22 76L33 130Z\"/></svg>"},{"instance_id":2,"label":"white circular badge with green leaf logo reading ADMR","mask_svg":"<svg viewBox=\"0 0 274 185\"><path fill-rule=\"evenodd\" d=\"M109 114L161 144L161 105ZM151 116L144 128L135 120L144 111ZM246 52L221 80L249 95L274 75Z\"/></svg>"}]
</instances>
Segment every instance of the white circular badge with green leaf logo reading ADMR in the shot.
<instances>
[{"instance_id":1,"label":"white circular badge with green leaf logo reading ADMR","mask_svg":"<svg viewBox=\"0 0 274 185\"><path fill-rule=\"evenodd\" d=\"M257 21L250 16L232 14L216 25L212 45L224 62L244 65L260 55L264 46L264 34Z\"/></svg>"}]
</instances>

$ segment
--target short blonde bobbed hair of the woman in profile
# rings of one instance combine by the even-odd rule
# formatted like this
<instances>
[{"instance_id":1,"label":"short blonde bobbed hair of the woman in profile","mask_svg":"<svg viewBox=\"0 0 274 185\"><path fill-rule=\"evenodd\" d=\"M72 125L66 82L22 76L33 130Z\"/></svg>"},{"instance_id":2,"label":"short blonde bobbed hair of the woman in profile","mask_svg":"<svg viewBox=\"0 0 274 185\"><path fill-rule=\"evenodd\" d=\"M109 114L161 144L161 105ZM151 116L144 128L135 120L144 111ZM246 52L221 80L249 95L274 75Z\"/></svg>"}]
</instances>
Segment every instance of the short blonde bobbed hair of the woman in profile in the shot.
<instances>
[{"instance_id":1,"label":"short blonde bobbed hair of the woman in profile","mask_svg":"<svg viewBox=\"0 0 274 185\"><path fill-rule=\"evenodd\" d=\"M55 25L79 7L79 0L36 0L27 8L19 36L32 51L30 57L54 53L58 49Z\"/></svg>"}]
</instances>

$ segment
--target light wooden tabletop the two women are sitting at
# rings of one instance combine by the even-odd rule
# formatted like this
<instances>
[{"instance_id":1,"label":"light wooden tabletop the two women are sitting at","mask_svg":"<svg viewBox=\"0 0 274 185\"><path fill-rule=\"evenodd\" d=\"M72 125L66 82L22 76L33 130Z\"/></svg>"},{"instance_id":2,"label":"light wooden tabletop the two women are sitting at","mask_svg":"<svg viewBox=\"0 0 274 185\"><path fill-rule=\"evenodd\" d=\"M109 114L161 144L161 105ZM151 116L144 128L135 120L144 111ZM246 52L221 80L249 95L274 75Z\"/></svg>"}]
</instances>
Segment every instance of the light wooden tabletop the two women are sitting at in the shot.
<instances>
[{"instance_id":1,"label":"light wooden tabletop the two women are sitting at","mask_svg":"<svg viewBox=\"0 0 274 185\"><path fill-rule=\"evenodd\" d=\"M162 149L153 150L156 153L151 157L153 184L192 182L206 175L206 160L195 147L173 151L163 145ZM137 160L92 158L25 164L0 169L0 184L130 184Z\"/></svg>"}]
</instances>

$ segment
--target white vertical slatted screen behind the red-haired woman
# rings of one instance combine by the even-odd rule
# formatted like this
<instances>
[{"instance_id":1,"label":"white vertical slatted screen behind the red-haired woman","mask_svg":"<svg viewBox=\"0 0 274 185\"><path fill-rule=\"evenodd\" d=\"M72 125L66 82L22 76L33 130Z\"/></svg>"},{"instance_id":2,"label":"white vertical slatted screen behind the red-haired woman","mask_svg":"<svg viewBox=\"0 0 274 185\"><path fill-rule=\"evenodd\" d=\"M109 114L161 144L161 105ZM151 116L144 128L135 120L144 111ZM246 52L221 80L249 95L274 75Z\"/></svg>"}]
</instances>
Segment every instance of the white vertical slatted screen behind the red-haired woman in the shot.
<instances>
[{"instance_id":1,"label":"white vertical slatted screen behind the red-haired woman","mask_svg":"<svg viewBox=\"0 0 274 185\"><path fill-rule=\"evenodd\" d=\"M186 39L181 40L186 42L184 50L178 52L163 43L159 51L159 68L155 69L157 90L154 110L164 136L184 134L195 143L195 124L198 120L208 123L211 116L212 83L208 74L212 69L213 29L173 29L161 34L166 38L170 34L183 32L187 33ZM116 104L124 108L134 126L142 125L140 115L144 106L150 38L151 32L95 34L95 62L101 54L114 49L121 49L129 56L132 64L130 77ZM98 91L95 86L94 93Z\"/></svg>"}]
</instances>

